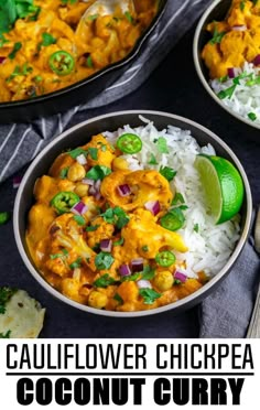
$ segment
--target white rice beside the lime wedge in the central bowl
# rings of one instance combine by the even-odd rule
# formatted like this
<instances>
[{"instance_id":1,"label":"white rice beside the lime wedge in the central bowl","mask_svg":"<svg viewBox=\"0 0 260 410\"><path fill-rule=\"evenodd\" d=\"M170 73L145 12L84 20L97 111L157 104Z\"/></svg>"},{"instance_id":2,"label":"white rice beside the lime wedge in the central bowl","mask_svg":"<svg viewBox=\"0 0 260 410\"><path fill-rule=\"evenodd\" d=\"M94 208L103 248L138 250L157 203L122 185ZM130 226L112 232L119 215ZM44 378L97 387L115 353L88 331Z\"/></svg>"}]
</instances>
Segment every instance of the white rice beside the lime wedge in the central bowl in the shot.
<instances>
[{"instance_id":1,"label":"white rice beside the lime wedge in the central bowl","mask_svg":"<svg viewBox=\"0 0 260 410\"><path fill-rule=\"evenodd\" d=\"M184 238L188 251L175 252L178 260L186 261L186 273L196 277L196 272L204 270L207 274L216 274L227 262L235 244L239 238L239 216L221 225L214 225L213 217L207 214L203 186L198 173L194 168L194 161L198 153L215 154L214 148L208 144L199 147L188 130L169 126L164 130L158 130L153 122L148 121L144 127L131 128L124 126L116 132L104 132L104 136L116 144L118 137L124 132L132 132L142 139L141 152L133 155L122 155L131 170L151 169L158 170L161 165L170 166L177 171L171 182L173 188L181 193L188 208L184 212L185 225L178 233ZM160 153L154 139L165 137L170 153ZM148 162L153 154L159 165L150 165ZM178 205L176 205L178 206ZM198 227L198 231L194 227Z\"/></svg>"}]
</instances>

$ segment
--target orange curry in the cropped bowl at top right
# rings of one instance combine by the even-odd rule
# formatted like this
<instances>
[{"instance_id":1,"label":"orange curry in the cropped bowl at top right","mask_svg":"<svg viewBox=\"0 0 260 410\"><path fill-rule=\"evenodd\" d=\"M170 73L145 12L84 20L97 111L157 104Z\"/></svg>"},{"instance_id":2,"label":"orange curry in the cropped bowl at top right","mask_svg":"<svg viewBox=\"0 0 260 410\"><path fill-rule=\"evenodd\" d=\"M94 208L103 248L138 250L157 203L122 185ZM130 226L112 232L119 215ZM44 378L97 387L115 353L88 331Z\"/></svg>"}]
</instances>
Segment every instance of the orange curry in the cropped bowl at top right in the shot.
<instances>
[{"instance_id":1,"label":"orange curry in the cropped bowl at top right","mask_svg":"<svg viewBox=\"0 0 260 410\"><path fill-rule=\"evenodd\" d=\"M232 0L226 19L212 22L207 30L213 37L202 57L210 78L221 78L228 68L242 67L260 54L260 1Z\"/></svg>"}]
</instances>

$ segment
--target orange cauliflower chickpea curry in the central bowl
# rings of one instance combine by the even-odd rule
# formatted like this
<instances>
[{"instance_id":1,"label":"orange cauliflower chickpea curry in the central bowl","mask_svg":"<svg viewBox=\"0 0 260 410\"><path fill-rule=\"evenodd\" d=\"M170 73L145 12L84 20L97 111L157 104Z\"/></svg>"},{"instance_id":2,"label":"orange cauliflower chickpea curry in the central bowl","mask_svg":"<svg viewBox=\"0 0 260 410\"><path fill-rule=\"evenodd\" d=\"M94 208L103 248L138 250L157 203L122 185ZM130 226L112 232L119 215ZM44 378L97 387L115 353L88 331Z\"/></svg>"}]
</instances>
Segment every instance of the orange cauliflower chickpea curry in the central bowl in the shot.
<instances>
[{"instance_id":1,"label":"orange cauliflower chickpea curry in the central bowl","mask_svg":"<svg viewBox=\"0 0 260 410\"><path fill-rule=\"evenodd\" d=\"M163 139L163 138L162 138ZM45 280L85 305L132 312L175 302L207 280L184 274L176 252L187 247L174 170L129 169L126 154L142 140L122 133L113 143L97 134L59 154L34 187L26 244ZM148 165L149 168L149 165Z\"/></svg>"}]
</instances>

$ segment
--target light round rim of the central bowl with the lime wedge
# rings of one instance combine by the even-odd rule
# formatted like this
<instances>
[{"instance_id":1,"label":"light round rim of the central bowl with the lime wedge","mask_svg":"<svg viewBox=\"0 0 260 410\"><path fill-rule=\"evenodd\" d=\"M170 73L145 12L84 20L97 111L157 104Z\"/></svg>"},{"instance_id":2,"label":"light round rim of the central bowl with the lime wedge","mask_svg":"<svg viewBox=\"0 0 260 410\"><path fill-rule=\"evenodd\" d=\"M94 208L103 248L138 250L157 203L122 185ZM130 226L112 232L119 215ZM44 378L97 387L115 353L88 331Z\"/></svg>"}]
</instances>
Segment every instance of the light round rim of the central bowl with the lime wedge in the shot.
<instances>
[{"instance_id":1,"label":"light round rim of the central bowl with the lime wedge","mask_svg":"<svg viewBox=\"0 0 260 410\"><path fill-rule=\"evenodd\" d=\"M116 117L120 117L120 116L123 116L123 115L137 115L137 116L143 116L143 117L149 116L149 115L156 115L156 116L165 118L165 126L167 125L166 120L170 121L172 119L172 120L182 121L183 123L185 123L186 127L192 126L192 127L194 127L194 128L196 128L201 131L204 131L209 138L212 138L218 144L220 144L223 147L223 149L232 159L234 163L236 164L237 169L239 170L239 172L241 174L243 185L245 185L245 201L247 202L247 215L246 215L243 230L242 230L241 236L240 236L240 238L239 238L239 240L236 245L236 248L235 248L234 252L231 253L229 260L224 266L224 268L215 277L213 277L206 284L204 284L199 290L189 294L188 296L183 298L183 299L181 299L176 302L160 306L160 308L149 309L149 310L144 310L144 311L137 311L137 312L115 312L115 311L98 310L98 309L94 309L94 308L80 304L80 303L78 303L76 301L73 301L72 299L68 299L67 296L63 295L61 292L58 292L56 289L54 289L51 284L48 284L45 281L45 279L41 276L41 273L34 268L34 266L32 265L31 260L29 259L29 257L25 252L25 249L23 247L23 242L22 242L22 239L21 239L21 236L20 236L20 229L19 229L19 225L20 225L19 224L19 208L20 208L20 202L21 202L21 198L22 198L22 195L23 195L23 190L26 185L26 181L28 181L29 176L31 175L31 173L34 170L34 166L39 162L41 162L42 158L44 158L46 155L46 153L50 152L53 147L55 147L55 144L57 142L59 142L61 140L66 139L66 137L71 133L73 133L74 131L76 131L80 128L85 128L88 125L90 125L91 122L96 122L96 121L101 122L104 119L107 119L109 117L116 118ZM31 165L26 170L26 172L25 172L25 174L22 179L22 182L19 186L18 193L17 193L17 196L15 196L15 202L14 202L14 209L13 209L13 230L14 230L14 238L15 238L15 242L17 242L17 246L18 246L18 250L20 252L20 256L23 259L23 262L24 262L25 267L29 269L30 273L34 277L34 279L45 289L45 291L51 293L53 296L55 296L59 301L65 302L68 305L72 305L76 309L79 309L84 312L94 313L94 314L97 314L97 315L111 316L111 317L138 317L138 316L148 316L148 315L152 315L152 314L158 314L158 313L162 313L162 312L166 312L166 311L174 311L178 308L180 309L184 308L184 305L186 305L186 304L188 305L189 303L195 304L196 299L198 299L198 296L204 295L204 298L205 298L205 294L208 293L209 289L216 282L220 281L229 272L229 270L231 269L234 263L237 261L243 246L246 245L247 238L249 236L251 219L252 219L252 196L251 196L251 190L250 190L249 181L248 181L247 174L243 170L243 166L241 165L240 161L238 160L236 154L232 152L232 150L226 144L226 142L224 142L217 134L215 134L213 131L210 131L206 127L204 127L204 126L202 126L202 125L199 125L199 123L197 123L193 120L189 120L185 117L181 117L181 116L170 114L170 112L165 112L165 111L134 109L134 110L123 110L123 111L115 111L115 112L110 112L110 114L104 114L104 115L87 119L85 121L82 121L82 122L77 123L76 126L67 129L63 133L61 133L50 144L47 144L41 151L41 153L33 160L33 162L31 163Z\"/></svg>"}]
</instances>

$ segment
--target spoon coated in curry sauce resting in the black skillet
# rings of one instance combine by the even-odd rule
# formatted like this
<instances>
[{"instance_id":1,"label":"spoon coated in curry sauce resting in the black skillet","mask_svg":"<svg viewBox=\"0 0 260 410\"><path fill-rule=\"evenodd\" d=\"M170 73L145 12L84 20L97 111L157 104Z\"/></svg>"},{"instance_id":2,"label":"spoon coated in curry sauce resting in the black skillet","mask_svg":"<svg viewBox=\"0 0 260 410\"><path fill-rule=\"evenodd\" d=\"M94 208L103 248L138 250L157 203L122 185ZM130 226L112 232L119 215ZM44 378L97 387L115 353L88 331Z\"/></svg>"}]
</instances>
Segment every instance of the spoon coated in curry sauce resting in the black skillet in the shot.
<instances>
[{"instance_id":1,"label":"spoon coated in curry sauce resting in the black skillet","mask_svg":"<svg viewBox=\"0 0 260 410\"><path fill-rule=\"evenodd\" d=\"M76 33L83 29L83 24L94 15L110 15L120 8L122 13L134 12L133 0L96 0L83 14L79 20Z\"/></svg>"}]
</instances>

